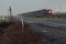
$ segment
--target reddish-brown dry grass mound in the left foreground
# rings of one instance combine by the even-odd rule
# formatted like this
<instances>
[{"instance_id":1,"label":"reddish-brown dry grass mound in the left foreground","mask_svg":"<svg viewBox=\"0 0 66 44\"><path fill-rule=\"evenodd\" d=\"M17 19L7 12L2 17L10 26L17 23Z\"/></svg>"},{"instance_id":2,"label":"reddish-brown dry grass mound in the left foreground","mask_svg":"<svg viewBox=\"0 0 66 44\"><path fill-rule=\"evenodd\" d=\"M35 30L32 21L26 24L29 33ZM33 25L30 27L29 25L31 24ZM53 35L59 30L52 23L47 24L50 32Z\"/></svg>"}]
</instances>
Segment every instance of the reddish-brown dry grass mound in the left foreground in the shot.
<instances>
[{"instance_id":1,"label":"reddish-brown dry grass mound in the left foreground","mask_svg":"<svg viewBox=\"0 0 66 44\"><path fill-rule=\"evenodd\" d=\"M1 32L0 44L40 44L40 37L33 31L23 30L21 23L14 23Z\"/></svg>"}]
</instances>

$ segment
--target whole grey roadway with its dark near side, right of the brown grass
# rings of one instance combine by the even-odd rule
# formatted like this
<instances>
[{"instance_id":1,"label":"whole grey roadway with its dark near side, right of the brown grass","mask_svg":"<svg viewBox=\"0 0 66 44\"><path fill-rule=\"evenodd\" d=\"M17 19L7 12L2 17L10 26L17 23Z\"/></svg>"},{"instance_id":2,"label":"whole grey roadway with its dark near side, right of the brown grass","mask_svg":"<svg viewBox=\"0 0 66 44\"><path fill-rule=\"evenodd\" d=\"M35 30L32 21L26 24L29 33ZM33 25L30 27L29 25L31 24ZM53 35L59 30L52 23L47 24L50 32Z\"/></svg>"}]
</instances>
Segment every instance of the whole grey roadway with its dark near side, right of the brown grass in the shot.
<instances>
[{"instance_id":1,"label":"whole grey roadway with its dark near side, right of the brown grass","mask_svg":"<svg viewBox=\"0 0 66 44\"><path fill-rule=\"evenodd\" d=\"M41 44L66 44L66 20L31 20L24 16L15 18L19 21L24 20L29 23L29 30L35 31L41 36ZM50 42L51 43L51 42Z\"/></svg>"}]
</instances>

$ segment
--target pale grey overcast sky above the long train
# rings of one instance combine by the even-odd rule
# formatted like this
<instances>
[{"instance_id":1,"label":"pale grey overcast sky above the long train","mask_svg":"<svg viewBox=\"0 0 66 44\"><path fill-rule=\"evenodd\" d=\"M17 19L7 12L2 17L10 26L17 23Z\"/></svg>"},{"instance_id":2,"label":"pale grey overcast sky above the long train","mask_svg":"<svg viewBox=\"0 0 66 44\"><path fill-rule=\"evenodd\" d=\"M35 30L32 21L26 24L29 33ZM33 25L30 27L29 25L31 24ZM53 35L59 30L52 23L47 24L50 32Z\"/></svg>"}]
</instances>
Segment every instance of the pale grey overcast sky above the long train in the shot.
<instances>
[{"instance_id":1,"label":"pale grey overcast sky above the long train","mask_svg":"<svg viewBox=\"0 0 66 44\"><path fill-rule=\"evenodd\" d=\"M0 15L8 14L11 6L13 14L41 9L53 9L54 12L66 12L66 0L0 0Z\"/></svg>"}]
</instances>

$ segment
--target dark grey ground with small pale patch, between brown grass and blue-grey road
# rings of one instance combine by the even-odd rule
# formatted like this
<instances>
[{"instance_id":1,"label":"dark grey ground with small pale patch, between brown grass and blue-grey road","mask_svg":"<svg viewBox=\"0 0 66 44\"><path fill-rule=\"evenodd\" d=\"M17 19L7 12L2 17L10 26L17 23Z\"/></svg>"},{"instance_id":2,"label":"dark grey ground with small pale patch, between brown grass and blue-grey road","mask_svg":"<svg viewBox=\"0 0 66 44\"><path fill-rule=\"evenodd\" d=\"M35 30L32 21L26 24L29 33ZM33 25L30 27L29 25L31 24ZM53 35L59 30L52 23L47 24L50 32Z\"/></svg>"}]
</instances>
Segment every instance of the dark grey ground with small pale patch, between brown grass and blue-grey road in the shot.
<instances>
[{"instance_id":1,"label":"dark grey ground with small pale patch, between brown grass and blue-grey road","mask_svg":"<svg viewBox=\"0 0 66 44\"><path fill-rule=\"evenodd\" d=\"M66 44L66 35L55 32L56 28L40 26L33 23L29 29L40 35L41 44Z\"/></svg>"}]
</instances>

